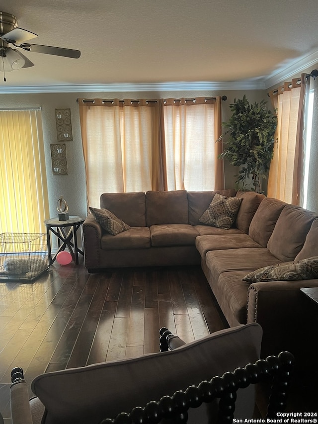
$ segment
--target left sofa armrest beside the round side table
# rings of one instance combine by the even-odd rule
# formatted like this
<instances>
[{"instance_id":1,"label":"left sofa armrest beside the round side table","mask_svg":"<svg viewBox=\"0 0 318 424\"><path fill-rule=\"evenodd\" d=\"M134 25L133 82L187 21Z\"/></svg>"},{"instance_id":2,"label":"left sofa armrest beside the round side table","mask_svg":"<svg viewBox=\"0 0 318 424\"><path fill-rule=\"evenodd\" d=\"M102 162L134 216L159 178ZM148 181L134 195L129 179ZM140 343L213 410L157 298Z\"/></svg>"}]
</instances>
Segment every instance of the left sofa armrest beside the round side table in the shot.
<instances>
[{"instance_id":1,"label":"left sofa armrest beside the round side table","mask_svg":"<svg viewBox=\"0 0 318 424\"><path fill-rule=\"evenodd\" d=\"M97 268L100 263L101 237L103 229L95 220L92 214L89 214L82 226L84 260L86 268Z\"/></svg>"}]
</instances>

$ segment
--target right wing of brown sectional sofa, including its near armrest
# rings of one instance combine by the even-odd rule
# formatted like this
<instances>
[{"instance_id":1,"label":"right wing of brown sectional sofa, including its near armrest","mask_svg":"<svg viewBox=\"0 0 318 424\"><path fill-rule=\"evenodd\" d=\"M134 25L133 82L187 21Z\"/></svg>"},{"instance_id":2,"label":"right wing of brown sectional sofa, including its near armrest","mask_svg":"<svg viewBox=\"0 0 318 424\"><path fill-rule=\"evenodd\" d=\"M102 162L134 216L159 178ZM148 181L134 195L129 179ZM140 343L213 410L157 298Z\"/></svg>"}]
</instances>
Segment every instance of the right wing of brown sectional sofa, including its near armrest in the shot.
<instances>
[{"instance_id":1,"label":"right wing of brown sectional sofa, including its near armrest","mask_svg":"<svg viewBox=\"0 0 318 424\"><path fill-rule=\"evenodd\" d=\"M196 239L203 271L229 325L257 322L263 328L263 357L280 350L299 360L310 356L317 310L300 288L318 287L318 279L249 283L242 278L264 266L317 256L317 238L316 213L265 198L248 234L223 242L220 236Z\"/></svg>"}]
</instances>

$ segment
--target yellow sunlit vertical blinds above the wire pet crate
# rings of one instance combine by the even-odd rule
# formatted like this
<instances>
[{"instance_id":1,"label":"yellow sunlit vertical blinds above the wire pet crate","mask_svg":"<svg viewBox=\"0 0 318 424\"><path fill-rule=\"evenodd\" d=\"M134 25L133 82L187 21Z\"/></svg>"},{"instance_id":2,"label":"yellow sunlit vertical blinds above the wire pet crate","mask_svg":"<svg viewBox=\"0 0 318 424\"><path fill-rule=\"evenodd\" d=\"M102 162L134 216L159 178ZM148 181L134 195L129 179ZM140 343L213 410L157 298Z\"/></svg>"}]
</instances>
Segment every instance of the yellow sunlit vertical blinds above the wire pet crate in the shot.
<instances>
[{"instance_id":1,"label":"yellow sunlit vertical blinds above the wire pet crate","mask_svg":"<svg viewBox=\"0 0 318 424\"><path fill-rule=\"evenodd\" d=\"M49 216L40 110L0 110L0 232L43 233Z\"/></svg>"}]
</instances>

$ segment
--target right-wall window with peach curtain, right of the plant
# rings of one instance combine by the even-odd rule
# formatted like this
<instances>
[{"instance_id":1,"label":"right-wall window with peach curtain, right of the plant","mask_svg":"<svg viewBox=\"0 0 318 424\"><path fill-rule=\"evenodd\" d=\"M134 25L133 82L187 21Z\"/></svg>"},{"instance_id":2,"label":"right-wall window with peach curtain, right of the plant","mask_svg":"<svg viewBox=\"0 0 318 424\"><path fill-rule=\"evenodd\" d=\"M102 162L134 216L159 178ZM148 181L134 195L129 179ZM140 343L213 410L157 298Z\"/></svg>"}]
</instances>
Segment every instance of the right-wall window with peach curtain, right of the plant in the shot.
<instances>
[{"instance_id":1,"label":"right-wall window with peach curtain, right of the plant","mask_svg":"<svg viewBox=\"0 0 318 424\"><path fill-rule=\"evenodd\" d=\"M318 212L318 71L270 92L277 108L268 196Z\"/></svg>"}]
</instances>

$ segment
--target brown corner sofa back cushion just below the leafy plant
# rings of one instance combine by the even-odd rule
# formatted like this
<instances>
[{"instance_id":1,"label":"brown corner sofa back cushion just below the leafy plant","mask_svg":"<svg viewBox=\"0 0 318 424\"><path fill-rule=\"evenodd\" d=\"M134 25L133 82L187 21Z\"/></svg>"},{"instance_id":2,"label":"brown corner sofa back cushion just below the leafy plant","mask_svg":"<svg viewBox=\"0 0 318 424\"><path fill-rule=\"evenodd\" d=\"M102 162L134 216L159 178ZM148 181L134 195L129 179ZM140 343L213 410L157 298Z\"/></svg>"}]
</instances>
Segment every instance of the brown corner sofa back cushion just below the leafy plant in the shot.
<instances>
[{"instance_id":1,"label":"brown corner sofa back cushion just below the leafy plant","mask_svg":"<svg viewBox=\"0 0 318 424\"><path fill-rule=\"evenodd\" d=\"M247 234L251 220L265 196L255 193L255 191L238 191L236 197L240 197L242 202L235 220L235 226Z\"/></svg>"}]
</instances>

